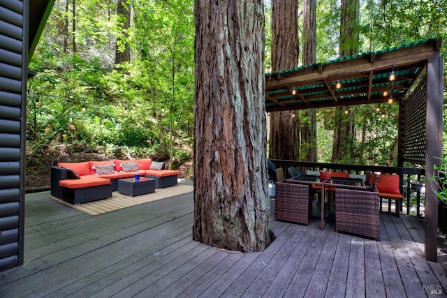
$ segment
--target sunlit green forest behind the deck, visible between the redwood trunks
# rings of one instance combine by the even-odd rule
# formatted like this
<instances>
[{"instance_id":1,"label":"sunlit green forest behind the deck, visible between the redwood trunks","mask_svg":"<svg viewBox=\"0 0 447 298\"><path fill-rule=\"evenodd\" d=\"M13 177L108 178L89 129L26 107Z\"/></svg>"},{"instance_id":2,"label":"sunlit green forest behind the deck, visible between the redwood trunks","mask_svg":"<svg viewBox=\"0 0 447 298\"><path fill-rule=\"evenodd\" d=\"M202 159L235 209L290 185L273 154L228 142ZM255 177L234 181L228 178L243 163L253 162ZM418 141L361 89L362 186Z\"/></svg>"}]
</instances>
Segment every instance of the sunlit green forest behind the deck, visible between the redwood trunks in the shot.
<instances>
[{"instance_id":1,"label":"sunlit green forest behind the deck, visible between the redwood trunks","mask_svg":"<svg viewBox=\"0 0 447 298\"><path fill-rule=\"evenodd\" d=\"M298 4L302 38L303 3ZM270 1L264 6L269 73ZM337 0L316 1L316 62L338 57L340 7ZM360 53L446 40L446 10L446 0L360 0L356 48ZM36 74L28 85L27 190L49 186L50 166L59 161L115 157L166 161L191 179L194 31L193 0L57 0L29 64ZM446 50L444 42L444 57ZM444 114L446 74L444 63ZM337 113L319 110L318 162L394 165L398 105L372 110L362 105L351 113L357 128L353 151L362 154L337 161ZM305 123L305 114L298 116Z\"/></svg>"}]
</instances>

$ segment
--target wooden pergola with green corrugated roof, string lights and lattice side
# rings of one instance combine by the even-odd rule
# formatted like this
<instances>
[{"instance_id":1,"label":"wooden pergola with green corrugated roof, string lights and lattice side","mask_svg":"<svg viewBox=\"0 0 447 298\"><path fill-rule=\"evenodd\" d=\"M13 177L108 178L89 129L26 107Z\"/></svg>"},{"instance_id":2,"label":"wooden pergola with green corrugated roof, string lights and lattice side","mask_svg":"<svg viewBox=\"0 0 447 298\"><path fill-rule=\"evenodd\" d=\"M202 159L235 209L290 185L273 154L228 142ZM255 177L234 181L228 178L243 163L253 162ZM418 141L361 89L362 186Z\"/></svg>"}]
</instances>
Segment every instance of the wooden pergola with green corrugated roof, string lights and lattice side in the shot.
<instances>
[{"instance_id":1,"label":"wooden pergola with green corrugated roof, string lights and lattice side","mask_svg":"<svg viewBox=\"0 0 447 298\"><path fill-rule=\"evenodd\" d=\"M388 103L390 98L399 104L398 165L425 166L425 258L434 262L438 205L428 179L442 156L441 43L441 38L422 40L265 75L266 112Z\"/></svg>"}]
</instances>

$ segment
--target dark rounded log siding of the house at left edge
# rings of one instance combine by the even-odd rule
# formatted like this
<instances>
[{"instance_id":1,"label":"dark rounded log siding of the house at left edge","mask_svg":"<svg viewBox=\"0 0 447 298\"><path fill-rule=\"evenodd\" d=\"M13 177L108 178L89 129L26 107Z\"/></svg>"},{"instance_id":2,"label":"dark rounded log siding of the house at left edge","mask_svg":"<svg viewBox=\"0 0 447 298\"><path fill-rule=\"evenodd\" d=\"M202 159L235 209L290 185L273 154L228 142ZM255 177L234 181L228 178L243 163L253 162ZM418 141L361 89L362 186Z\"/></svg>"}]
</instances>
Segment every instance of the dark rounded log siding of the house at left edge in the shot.
<instances>
[{"instance_id":1,"label":"dark rounded log siding of the house at left edge","mask_svg":"<svg viewBox=\"0 0 447 298\"><path fill-rule=\"evenodd\" d=\"M28 1L0 0L0 271L22 265Z\"/></svg>"}]
</instances>

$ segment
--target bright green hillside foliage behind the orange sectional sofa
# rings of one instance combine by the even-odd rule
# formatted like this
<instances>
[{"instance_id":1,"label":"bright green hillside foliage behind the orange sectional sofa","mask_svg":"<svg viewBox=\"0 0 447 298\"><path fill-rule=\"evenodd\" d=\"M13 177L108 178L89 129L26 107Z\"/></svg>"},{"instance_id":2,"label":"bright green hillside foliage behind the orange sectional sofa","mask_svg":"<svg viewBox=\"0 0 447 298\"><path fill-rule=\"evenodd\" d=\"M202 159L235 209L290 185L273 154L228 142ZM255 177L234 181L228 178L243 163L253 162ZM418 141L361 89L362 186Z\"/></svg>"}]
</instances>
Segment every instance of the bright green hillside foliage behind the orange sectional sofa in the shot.
<instances>
[{"instance_id":1,"label":"bright green hillside foliage behind the orange sectional sofa","mask_svg":"<svg viewBox=\"0 0 447 298\"><path fill-rule=\"evenodd\" d=\"M55 4L29 65L36 71L29 80L29 144L81 142L109 153L121 147L133 156L190 158L174 146L180 136L192 144L193 1L132 4L126 34L113 2L77 1L76 31L72 3L68 10ZM131 45L133 59L114 66L116 36Z\"/></svg>"}]
</instances>

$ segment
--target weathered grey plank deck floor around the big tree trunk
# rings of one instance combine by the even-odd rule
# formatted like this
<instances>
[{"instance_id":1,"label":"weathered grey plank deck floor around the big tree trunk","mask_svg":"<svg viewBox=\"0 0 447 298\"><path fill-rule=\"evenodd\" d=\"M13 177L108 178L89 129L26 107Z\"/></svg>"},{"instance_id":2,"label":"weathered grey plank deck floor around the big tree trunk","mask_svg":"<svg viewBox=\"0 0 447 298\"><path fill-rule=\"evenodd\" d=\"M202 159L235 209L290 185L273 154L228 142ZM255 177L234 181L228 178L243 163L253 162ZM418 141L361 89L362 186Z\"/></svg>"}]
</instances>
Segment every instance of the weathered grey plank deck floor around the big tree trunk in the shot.
<instances>
[{"instance_id":1,"label":"weathered grey plank deck floor around the big tree trunk","mask_svg":"<svg viewBox=\"0 0 447 298\"><path fill-rule=\"evenodd\" d=\"M25 263L0 297L447 296L445 238L426 262L413 216L382 215L381 241L272 221L264 252L229 253L192 240L191 193L99 216L47 194L26 196Z\"/></svg>"}]
</instances>

